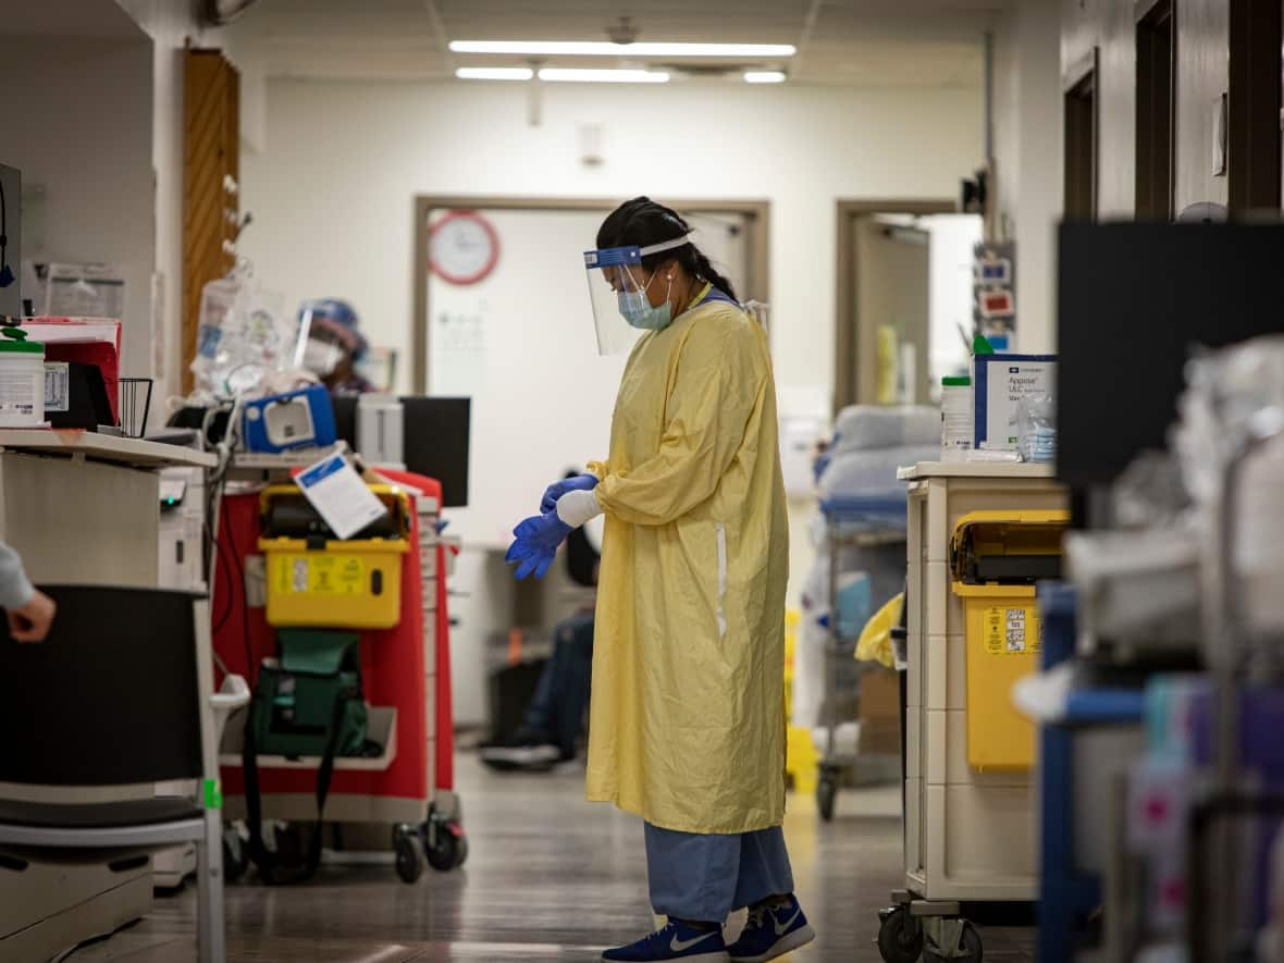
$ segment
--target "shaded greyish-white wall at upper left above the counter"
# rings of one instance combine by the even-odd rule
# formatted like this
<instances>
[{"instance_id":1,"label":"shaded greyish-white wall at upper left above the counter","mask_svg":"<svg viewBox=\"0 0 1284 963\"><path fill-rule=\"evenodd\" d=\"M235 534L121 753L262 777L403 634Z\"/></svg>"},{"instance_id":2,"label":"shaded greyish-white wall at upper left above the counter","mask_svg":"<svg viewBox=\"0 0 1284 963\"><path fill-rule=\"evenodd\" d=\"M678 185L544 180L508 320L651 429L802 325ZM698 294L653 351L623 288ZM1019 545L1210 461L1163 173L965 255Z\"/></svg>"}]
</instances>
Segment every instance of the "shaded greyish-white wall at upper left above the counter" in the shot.
<instances>
[{"instance_id":1,"label":"shaded greyish-white wall at upper left above the counter","mask_svg":"<svg viewBox=\"0 0 1284 963\"><path fill-rule=\"evenodd\" d=\"M152 50L109 37L3 36L0 159L42 185L33 261L109 262L126 282L122 375L152 371ZM42 309L42 306L36 306Z\"/></svg>"}]
</instances>

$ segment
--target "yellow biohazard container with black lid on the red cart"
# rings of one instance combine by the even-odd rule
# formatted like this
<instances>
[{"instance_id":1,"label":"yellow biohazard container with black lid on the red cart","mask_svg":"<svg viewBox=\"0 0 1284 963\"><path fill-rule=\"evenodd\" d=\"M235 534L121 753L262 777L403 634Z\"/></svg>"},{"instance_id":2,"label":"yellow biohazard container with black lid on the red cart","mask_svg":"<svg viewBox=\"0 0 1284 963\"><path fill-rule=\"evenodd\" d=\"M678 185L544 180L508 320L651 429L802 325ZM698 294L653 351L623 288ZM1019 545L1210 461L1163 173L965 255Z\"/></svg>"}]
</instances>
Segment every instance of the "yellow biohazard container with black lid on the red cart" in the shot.
<instances>
[{"instance_id":1,"label":"yellow biohazard container with black lid on the red cart","mask_svg":"<svg viewBox=\"0 0 1284 963\"><path fill-rule=\"evenodd\" d=\"M271 485L259 508L267 561L267 621L280 628L390 629L401 620L402 561L410 551L410 498L370 485L388 515L362 538L308 534L320 528L295 485Z\"/></svg>"}]
</instances>

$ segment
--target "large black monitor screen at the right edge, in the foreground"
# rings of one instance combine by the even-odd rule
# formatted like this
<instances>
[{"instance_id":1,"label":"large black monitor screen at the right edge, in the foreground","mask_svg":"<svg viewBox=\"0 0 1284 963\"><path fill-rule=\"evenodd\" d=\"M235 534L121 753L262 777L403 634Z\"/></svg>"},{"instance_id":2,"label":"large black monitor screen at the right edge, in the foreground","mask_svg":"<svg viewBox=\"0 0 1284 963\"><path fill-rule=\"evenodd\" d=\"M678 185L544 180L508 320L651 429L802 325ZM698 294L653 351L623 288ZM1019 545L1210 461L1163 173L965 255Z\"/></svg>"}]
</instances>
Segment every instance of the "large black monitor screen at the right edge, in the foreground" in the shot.
<instances>
[{"instance_id":1,"label":"large black monitor screen at the right edge, in the foreground","mask_svg":"<svg viewBox=\"0 0 1284 963\"><path fill-rule=\"evenodd\" d=\"M1167 446L1195 345L1284 331L1284 225L1066 223L1057 464L1106 485Z\"/></svg>"}]
</instances>

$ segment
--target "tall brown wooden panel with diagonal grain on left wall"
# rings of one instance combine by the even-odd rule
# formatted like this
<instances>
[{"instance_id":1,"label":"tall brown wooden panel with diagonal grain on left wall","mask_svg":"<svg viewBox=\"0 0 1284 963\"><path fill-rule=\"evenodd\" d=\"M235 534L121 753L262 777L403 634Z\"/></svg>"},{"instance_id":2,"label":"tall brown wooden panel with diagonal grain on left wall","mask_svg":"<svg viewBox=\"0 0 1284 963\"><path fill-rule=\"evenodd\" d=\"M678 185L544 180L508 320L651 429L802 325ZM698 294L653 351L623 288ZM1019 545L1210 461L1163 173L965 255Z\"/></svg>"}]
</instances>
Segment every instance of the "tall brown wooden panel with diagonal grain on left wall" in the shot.
<instances>
[{"instance_id":1,"label":"tall brown wooden panel with diagonal grain on left wall","mask_svg":"<svg viewBox=\"0 0 1284 963\"><path fill-rule=\"evenodd\" d=\"M200 291L226 275L235 257L239 203L227 190L240 184L240 76L217 50L187 50L184 78L182 164L182 390L193 385Z\"/></svg>"}]
</instances>

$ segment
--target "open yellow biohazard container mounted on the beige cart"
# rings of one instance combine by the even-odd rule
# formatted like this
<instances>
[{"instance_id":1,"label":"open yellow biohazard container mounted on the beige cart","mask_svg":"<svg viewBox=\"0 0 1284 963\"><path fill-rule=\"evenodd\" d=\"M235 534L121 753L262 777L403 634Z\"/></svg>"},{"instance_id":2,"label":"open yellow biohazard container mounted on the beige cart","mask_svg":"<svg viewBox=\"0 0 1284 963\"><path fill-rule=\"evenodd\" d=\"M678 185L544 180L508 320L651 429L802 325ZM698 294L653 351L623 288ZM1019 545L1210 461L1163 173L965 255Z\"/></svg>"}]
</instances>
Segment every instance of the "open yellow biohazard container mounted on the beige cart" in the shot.
<instances>
[{"instance_id":1,"label":"open yellow biohazard container mounted on the beige cart","mask_svg":"<svg viewBox=\"0 0 1284 963\"><path fill-rule=\"evenodd\" d=\"M1012 704L1039 670L1043 623L1034 582L1055 574L1064 511L980 511L954 529L954 594L967 632L967 759L975 769L1030 769L1035 727Z\"/></svg>"}]
</instances>

